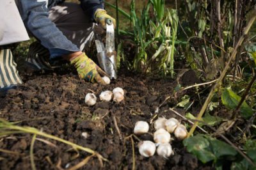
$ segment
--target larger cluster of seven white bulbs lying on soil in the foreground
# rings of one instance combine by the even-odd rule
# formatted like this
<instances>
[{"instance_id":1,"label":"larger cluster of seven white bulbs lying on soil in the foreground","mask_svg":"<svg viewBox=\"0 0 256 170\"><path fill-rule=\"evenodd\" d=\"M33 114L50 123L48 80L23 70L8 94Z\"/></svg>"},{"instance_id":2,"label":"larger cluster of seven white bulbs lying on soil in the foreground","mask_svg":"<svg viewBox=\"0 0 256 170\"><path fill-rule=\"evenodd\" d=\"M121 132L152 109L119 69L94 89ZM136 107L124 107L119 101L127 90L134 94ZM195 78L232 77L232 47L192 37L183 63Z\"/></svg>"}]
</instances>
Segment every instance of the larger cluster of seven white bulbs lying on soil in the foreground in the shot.
<instances>
[{"instance_id":1,"label":"larger cluster of seven white bulbs lying on soil in the foreground","mask_svg":"<svg viewBox=\"0 0 256 170\"><path fill-rule=\"evenodd\" d=\"M158 118L154 122L154 128L156 132L154 133L154 141L141 141L139 146L139 152L143 157L151 157L157 151L158 155L164 158L173 155L171 141L171 133L174 133L178 140L183 140L187 137L188 131L186 127L175 118ZM147 133L149 130L149 125L146 121L137 121L134 127L134 134L141 135ZM157 150L156 150L157 147Z\"/></svg>"}]
</instances>

